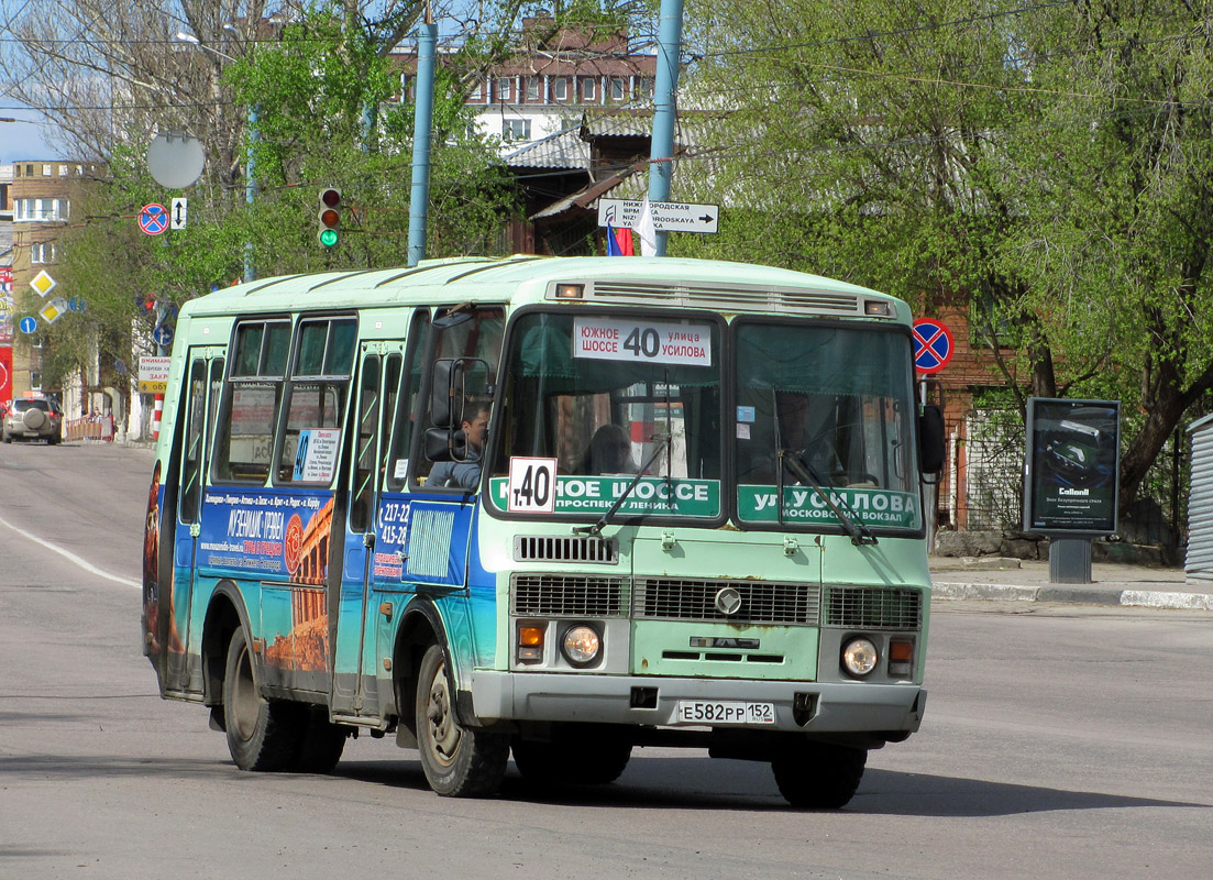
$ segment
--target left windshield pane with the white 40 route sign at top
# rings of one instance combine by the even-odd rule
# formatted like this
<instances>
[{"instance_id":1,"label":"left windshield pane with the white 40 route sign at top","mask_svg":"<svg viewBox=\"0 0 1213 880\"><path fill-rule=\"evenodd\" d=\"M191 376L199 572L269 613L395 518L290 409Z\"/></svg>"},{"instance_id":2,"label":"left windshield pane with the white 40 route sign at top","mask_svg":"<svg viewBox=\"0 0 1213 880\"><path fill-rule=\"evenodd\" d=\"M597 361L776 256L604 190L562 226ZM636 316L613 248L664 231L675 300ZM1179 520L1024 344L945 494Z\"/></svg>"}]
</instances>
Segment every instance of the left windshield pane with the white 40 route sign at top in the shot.
<instances>
[{"instance_id":1,"label":"left windshield pane with the white 40 route sign at top","mask_svg":"<svg viewBox=\"0 0 1213 880\"><path fill-rule=\"evenodd\" d=\"M714 319L530 312L508 346L490 483L499 509L594 516L623 496L619 518L722 515ZM547 504L512 492L525 488L511 476L522 459L549 462Z\"/></svg>"}]
</instances>

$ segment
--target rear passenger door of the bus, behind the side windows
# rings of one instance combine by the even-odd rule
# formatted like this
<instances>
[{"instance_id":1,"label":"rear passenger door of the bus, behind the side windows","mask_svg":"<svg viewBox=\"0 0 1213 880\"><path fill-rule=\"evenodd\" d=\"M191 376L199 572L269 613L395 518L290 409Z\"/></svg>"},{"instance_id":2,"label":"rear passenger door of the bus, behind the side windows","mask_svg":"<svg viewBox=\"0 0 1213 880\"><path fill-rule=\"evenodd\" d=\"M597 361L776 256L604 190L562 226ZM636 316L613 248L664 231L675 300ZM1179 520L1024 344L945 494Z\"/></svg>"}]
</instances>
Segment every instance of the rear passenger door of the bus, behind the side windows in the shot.
<instances>
[{"instance_id":1,"label":"rear passenger door of the bus, behind the side windows","mask_svg":"<svg viewBox=\"0 0 1213 880\"><path fill-rule=\"evenodd\" d=\"M177 526L173 532L173 578L169 604L169 680L183 691L201 692L200 621L193 620L194 592L198 589L198 535L206 489L215 415L223 388L223 350L190 348L187 357L186 387L177 418L184 421L178 461ZM194 631L194 630L199 631Z\"/></svg>"}]
</instances>

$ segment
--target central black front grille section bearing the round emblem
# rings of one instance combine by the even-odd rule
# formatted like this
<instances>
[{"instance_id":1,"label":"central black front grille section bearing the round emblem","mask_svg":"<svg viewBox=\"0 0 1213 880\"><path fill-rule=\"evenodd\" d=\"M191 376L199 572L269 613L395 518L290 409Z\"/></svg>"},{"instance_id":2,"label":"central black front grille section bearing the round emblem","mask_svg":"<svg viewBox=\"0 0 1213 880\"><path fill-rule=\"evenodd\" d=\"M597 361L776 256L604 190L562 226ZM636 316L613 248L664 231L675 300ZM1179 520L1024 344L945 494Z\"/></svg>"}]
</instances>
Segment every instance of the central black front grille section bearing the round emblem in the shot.
<instances>
[{"instance_id":1,"label":"central black front grille section bearing the round emblem","mask_svg":"<svg viewBox=\"0 0 1213 880\"><path fill-rule=\"evenodd\" d=\"M729 597L717 602L718 594L730 587L740 598L731 614L717 607L730 606ZM821 589L815 584L778 580L637 578L632 587L632 613L665 620L815 625L820 601Z\"/></svg>"}]
</instances>

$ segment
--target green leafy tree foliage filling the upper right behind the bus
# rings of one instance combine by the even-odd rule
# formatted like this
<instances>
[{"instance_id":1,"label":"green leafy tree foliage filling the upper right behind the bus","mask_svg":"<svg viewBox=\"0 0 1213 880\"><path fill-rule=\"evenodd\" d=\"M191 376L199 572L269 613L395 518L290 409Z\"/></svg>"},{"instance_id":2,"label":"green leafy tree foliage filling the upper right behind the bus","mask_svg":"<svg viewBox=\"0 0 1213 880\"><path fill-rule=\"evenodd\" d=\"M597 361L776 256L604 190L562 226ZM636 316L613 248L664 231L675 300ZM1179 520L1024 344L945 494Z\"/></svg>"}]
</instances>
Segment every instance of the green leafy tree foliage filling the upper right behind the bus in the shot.
<instances>
[{"instance_id":1,"label":"green leafy tree foliage filling the upper right behind the bus","mask_svg":"<svg viewBox=\"0 0 1213 880\"><path fill-rule=\"evenodd\" d=\"M723 0L685 93L728 232L672 250L967 310L1008 396L1127 402L1122 504L1213 384L1209 7ZM690 200L690 199L688 199Z\"/></svg>"}]
</instances>

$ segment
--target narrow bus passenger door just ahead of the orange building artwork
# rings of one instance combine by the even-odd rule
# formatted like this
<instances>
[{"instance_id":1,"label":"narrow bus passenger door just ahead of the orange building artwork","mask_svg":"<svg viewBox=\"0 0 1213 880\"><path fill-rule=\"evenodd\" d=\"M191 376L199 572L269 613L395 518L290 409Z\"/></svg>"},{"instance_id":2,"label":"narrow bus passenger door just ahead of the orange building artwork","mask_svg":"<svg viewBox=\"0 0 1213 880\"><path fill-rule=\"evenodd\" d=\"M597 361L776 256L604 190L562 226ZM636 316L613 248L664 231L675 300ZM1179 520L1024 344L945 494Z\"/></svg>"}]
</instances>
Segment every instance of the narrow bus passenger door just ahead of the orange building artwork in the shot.
<instances>
[{"instance_id":1,"label":"narrow bus passenger door just ahead of the orange building artwork","mask_svg":"<svg viewBox=\"0 0 1213 880\"><path fill-rule=\"evenodd\" d=\"M375 579L376 520L383 488L391 421L399 392L404 344L363 342L359 350L354 437L349 449L349 513L337 609L332 670L335 715L370 716L380 711L374 629L368 628Z\"/></svg>"}]
</instances>

